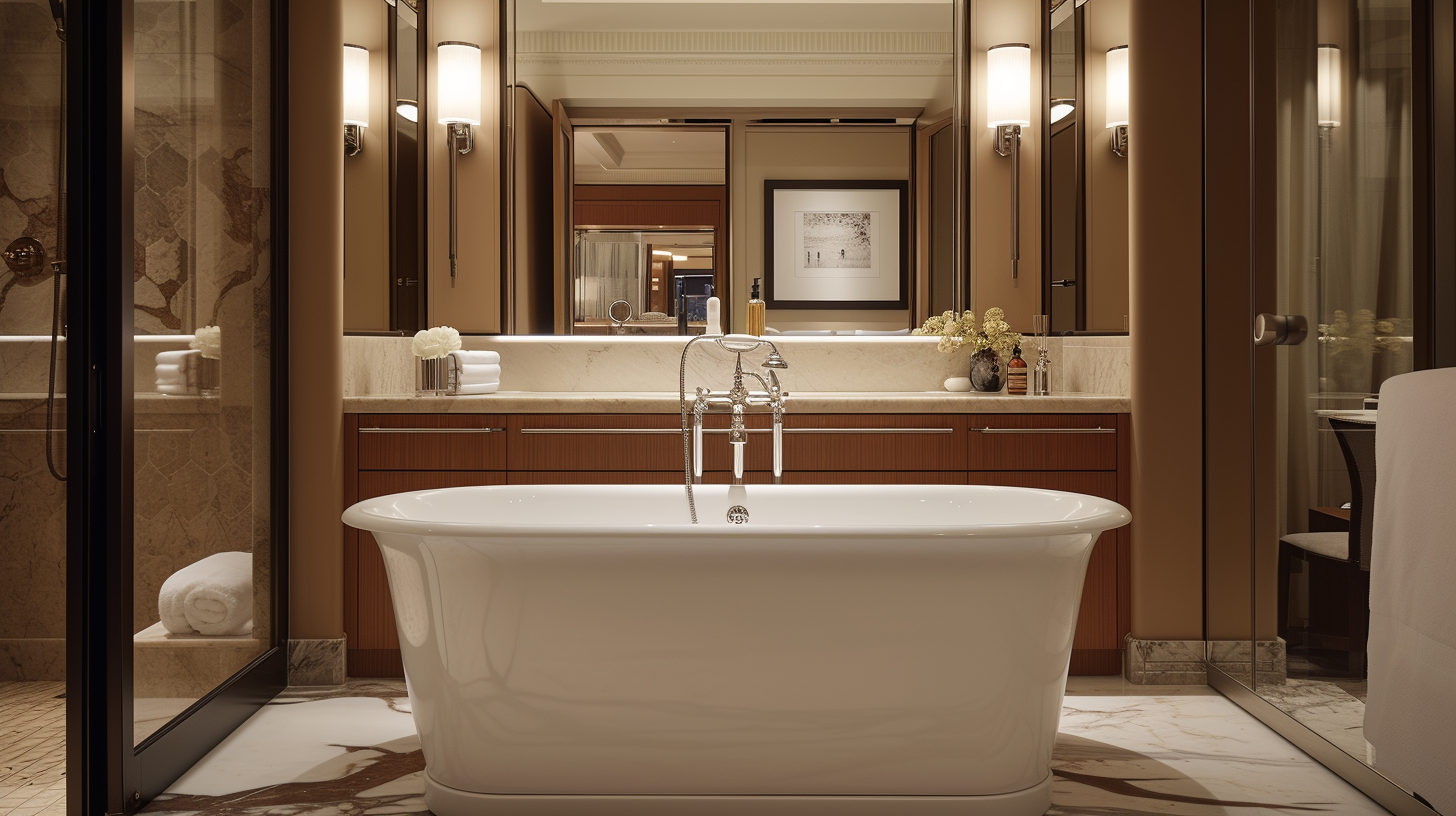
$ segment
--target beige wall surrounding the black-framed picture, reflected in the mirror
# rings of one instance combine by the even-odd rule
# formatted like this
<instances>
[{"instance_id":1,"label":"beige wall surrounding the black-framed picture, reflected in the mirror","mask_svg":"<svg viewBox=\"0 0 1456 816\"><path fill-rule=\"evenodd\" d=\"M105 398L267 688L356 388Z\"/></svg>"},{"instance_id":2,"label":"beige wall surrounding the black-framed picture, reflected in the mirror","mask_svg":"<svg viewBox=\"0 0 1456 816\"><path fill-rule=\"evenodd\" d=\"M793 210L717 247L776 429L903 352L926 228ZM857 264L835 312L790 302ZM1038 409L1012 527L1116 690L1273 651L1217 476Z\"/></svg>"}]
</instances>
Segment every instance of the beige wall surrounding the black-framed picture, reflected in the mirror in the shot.
<instances>
[{"instance_id":1,"label":"beige wall surrounding the black-framed picture, reflected in the mirror","mask_svg":"<svg viewBox=\"0 0 1456 816\"><path fill-rule=\"evenodd\" d=\"M731 192L734 210L734 329L743 331L753 278L763 277L763 182L766 179L909 181L911 130L906 128L743 128L741 187ZM735 156L735 159L737 159ZM741 213L741 217L740 217ZM913 236L913 233L911 233ZM740 243L741 242L741 243ZM911 264L914 254L910 254ZM911 270L913 272L913 270ZM910 325L909 309L818 310L770 309L776 329L900 329Z\"/></svg>"}]
</instances>

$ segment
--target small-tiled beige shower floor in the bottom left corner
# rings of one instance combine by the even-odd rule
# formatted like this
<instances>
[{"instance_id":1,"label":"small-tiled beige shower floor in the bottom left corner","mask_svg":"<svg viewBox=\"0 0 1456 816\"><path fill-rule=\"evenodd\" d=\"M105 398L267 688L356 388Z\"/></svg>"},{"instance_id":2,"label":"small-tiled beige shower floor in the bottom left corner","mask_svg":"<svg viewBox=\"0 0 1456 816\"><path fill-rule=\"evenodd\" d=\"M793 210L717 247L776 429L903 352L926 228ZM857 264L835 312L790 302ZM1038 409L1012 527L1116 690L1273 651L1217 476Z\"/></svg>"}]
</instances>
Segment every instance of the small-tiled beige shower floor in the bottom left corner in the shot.
<instances>
[{"instance_id":1,"label":"small-tiled beige shower floor in the bottom left corner","mask_svg":"<svg viewBox=\"0 0 1456 816\"><path fill-rule=\"evenodd\" d=\"M66 816L64 682L0 682L0 813Z\"/></svg>"}]
</instances>

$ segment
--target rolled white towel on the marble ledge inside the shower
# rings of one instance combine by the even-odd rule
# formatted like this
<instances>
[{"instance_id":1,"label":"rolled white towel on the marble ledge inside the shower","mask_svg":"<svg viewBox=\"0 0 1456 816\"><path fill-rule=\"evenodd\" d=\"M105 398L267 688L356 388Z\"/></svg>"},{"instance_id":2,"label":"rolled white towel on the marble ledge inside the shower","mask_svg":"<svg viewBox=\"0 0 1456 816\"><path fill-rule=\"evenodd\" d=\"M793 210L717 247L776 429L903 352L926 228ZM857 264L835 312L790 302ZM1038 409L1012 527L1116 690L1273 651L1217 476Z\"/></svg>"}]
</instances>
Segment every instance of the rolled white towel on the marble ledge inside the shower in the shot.
<instances>
[{"instance_id":1,"label":"rolled white towel on the marble ledge inside the shower","mask_svg":"<svg viewBox=\"0 0 1456 816\"><path fill-rule=\"evenodd\" d=\"M253 555L218 552L162 583L157 612L169 632L246 635L253 627Z\"/></svg>"}]
</instances>

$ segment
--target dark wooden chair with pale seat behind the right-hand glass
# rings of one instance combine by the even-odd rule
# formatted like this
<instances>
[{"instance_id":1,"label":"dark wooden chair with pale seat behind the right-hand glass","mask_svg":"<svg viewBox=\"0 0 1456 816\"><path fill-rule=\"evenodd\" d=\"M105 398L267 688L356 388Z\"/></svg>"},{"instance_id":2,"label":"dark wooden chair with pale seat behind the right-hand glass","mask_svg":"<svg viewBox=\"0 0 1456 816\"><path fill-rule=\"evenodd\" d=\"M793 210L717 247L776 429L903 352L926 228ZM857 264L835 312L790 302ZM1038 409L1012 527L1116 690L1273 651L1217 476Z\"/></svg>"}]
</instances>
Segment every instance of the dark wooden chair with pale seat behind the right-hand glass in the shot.
<instances>
[{"instance_id":1,"label":"dark wooden chair with pale seat behind the right-hand glass","mask_svg":"<svg viewBox=\"0 0 1456 816\"><path fill-rule=\"evenodd\" d=\"M1278 635L1290 640L1289 583L1309 576L1306 648L1347 653L1347 672L1363 678L1370 631L1370 538L1374 526L1374 425L1329 420L1350 471L1350 532L1290 533L1278 545ZM1291 644L1294 646L1294 644Z\"/></svg>"}]
</instances>

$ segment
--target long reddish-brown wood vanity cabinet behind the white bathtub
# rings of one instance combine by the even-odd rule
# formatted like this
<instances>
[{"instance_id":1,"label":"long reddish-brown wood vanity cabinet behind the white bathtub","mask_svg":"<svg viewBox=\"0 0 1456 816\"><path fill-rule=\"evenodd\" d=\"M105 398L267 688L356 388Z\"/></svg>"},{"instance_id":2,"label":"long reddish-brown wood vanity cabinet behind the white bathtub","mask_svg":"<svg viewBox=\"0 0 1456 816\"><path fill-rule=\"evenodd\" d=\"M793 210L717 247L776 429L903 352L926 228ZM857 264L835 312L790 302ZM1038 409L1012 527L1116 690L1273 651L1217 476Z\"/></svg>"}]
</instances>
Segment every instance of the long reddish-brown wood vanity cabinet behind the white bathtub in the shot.
<instances>
[{"instance_id":1,"label":"long reddish-brown wood vanity cabinet behind the white bathtub","mask_svg":"<svg viewBox=\"0 0 1456 816\"><path fill-rule=\"evenodd\" d=\"M680 484L677 414L348 414L345 503L408 490L488 484ZM772 420L747 418L744 481L772 481ZM703 481L732 468L728 417L706 421ZM716 440L716 442L715 442ZM1041 487L1128 504L1127 414L789 414L785 484ZM351 676L400 676L384 564L368 533L345 527ZM1131 627L1131 535L1098 541L1082 590L1073 675L1121 672Z\"/></svg>"}]
</instances>

